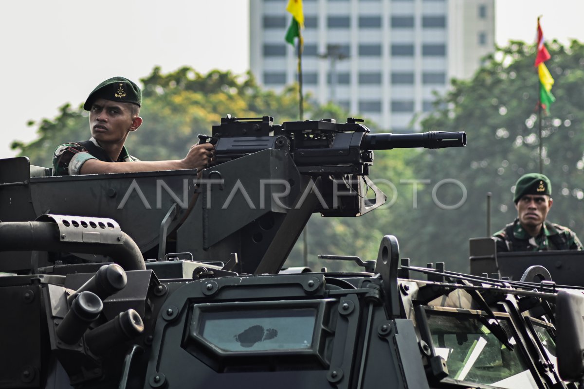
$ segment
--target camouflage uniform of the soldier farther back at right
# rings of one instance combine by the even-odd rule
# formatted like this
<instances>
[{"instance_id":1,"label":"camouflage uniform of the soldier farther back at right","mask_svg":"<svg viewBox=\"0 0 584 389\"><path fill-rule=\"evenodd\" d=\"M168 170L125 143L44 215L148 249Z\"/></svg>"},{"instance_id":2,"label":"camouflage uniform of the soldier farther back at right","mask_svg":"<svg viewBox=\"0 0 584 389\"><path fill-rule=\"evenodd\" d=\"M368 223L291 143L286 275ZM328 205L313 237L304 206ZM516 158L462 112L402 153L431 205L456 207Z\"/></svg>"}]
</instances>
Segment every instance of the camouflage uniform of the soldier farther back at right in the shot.
<instances>
[{"instance_id":1,"label":"camouflage uniform of the soldier farther back at right","mask_svg":"<svg viewBox=\"0 0 584 389\"><path fill-rule=\"evenodd\" d=\"M538 236L532 237L517 218L493 236L497 251L582 250L582 243L571 229L550 222L544 222Z\"/></svg>"}]
</instances>

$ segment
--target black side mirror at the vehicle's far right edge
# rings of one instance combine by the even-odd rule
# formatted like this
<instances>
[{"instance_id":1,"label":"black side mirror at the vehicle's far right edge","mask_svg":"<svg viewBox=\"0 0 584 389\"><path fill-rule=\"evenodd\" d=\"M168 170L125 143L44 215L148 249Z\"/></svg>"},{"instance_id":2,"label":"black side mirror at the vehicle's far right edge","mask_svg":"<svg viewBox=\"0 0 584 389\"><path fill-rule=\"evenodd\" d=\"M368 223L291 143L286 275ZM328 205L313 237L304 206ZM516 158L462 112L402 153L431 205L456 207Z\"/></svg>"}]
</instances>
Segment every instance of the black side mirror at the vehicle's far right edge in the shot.
<instances>
[{"instance_id":1,"label":"black side mirror at the vehicle's far right edge","mask_svg":"<svg viewBox=\"0 0 584 389\"><path fill-rule=\"evenodd\" d=\"M565 381L584 376L584 295L560 290L556 298L558 373Z\"/></svg>"}]
</instances>

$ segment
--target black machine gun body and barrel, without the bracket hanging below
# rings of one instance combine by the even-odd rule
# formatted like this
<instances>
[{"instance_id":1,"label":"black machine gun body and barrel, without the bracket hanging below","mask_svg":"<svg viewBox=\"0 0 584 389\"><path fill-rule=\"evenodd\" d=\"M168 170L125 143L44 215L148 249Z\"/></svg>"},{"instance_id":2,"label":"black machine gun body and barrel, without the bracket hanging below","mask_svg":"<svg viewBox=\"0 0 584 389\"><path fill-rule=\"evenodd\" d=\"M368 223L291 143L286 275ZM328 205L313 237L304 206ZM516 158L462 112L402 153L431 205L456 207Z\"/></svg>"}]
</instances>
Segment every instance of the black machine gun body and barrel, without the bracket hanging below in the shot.
<instances>
[{"instance_id":1,"label":"black machine gun body and barrel, without the bracket hanging below","mask_svg":"<svg viewBox=\"0 0 584 389\"><path fill-rule=\"evenodd\" d=\"M423 134L371 134L357 118L345 124L333 119L289 121L273 124L274 118L221 118L213 135L199 135L201 142L215 145L215 163L228 162L264 149L286 149L300 173L369 174L373 150L399 148L440 149L464 147L465 132L431 131Z\"/></svg>"}]
</instances>

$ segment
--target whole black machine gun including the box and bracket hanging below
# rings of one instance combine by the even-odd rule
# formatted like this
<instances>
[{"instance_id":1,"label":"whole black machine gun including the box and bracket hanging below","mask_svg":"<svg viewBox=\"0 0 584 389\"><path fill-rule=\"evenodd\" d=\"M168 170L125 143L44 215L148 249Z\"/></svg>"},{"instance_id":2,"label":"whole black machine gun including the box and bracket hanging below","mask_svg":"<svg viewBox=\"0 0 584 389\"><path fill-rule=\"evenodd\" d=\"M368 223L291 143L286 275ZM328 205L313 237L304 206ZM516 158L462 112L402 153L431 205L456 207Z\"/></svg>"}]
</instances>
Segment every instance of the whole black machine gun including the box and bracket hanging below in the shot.
<instances>
[{"instance_id":1,"label":"whole black machine gun including the box and bracket hanging below","mask_svg":"<svg viewBox=\"0 0 584 389\"><path fill-rule=\"evenodd\" d=\"M274 125L269 116L227 115L213 126L212 136L199 135L199 139L215 145L215 165L265 149L284 150L298 173L319 178L317 190L324 193L314 212L322 216L360 216L385 202L383 193L367 178L373 150L463 147L467 142L464 132L371 134L362 122L350 117L344 124L323 119ZM373 200L366 198L370 189Z\"/></svg>"}]
</instances>

